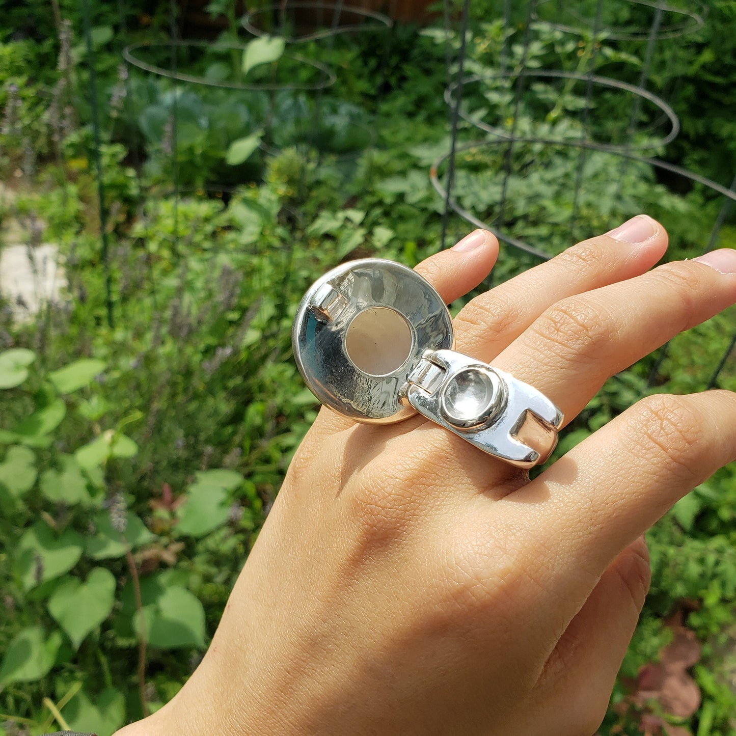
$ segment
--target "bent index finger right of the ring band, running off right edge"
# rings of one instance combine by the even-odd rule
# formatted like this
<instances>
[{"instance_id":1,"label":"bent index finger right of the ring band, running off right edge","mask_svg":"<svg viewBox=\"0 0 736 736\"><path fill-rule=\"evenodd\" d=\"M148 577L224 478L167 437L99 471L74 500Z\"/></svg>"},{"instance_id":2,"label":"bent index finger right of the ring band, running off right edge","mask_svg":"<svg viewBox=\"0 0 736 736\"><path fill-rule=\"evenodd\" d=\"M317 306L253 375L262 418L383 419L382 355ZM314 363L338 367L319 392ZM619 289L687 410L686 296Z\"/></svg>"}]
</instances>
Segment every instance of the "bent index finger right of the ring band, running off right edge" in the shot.
<instances>
[{"instance_id":1,"label":"bent index finger right of the ring band, running off right edge","mask_svg":"<svg viewBox=\"0 0 736 736\"><path fill-rule=\"evenodd\" d=\"M624 548L734 460L736 393L657 394L495 506L529 539L544 540L528 575L555 591L565 620Z\"/></svg>"}]
</instances>

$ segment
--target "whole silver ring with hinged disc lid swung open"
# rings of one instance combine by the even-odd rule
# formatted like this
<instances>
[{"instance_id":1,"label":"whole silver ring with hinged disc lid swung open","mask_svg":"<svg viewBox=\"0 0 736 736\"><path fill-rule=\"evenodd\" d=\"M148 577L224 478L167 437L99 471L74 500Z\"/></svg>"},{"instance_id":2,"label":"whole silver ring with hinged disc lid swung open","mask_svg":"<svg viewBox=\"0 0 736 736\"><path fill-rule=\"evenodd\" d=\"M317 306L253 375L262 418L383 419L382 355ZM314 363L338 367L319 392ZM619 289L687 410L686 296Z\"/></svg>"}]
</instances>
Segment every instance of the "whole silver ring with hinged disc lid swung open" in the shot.
<instances>
[{"instance_id":1,"label":"whole silver ring with hinged disc lid swung open","mask_svg":"<svg viewBox=\"0 0 736 736\"><path fill-rule=\"evenodd\" d=\"M291 340L311 392L357 422L400 422L418 411L523 468L557 444L562 411L528 383L452 350L445 302L400 263L364 258L316 280Z\"/></svg>"}]
</instances>

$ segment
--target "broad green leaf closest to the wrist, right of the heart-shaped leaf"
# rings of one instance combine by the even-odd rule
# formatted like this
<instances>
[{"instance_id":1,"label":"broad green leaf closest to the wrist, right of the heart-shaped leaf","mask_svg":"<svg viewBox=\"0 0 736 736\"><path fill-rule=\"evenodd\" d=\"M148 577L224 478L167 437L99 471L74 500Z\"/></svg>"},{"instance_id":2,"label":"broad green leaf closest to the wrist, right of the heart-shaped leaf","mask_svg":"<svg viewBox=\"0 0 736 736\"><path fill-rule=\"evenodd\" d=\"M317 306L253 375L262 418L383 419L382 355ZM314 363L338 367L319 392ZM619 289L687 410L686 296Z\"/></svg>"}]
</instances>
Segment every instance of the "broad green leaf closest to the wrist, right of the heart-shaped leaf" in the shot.
<instances>
[{"instance_id":1,"label":"broad green leaf closest to the wrist, right of the heart-shaped leaf","mask_svg":"<svg viewBox=\"0 0 736 736\"><path fill-rule=\"evenodd\" d=\"M133 626L141 636L141 616L146 643L160 649L205 647L205 609L183 587L169 586L155 604L136 613Z\"/></svg>"}]
</instances>

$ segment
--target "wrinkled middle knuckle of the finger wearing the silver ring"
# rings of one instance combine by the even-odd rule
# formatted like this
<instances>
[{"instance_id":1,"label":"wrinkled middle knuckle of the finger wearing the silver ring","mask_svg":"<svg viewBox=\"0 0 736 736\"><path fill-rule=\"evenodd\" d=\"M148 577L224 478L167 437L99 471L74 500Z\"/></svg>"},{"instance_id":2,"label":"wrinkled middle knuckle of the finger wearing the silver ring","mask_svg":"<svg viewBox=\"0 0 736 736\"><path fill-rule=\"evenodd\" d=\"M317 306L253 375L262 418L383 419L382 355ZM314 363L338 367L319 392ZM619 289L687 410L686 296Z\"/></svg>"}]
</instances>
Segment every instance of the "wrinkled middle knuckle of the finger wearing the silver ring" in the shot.
<instances>
[{"instance_id":1,"label":"wrinkled middle knuckle of the finger wearing the silver ring","mask_svg":"<svg viewBox=\"0 0 736 736\"><path fill-rule=\"evenodd\" d=\"M601 347L615 337L615 327L606 310L581 297L557 302L537 320L534 334L545 347L565 361L589 364L601 355Z\"/></svg>"}]
</instances>

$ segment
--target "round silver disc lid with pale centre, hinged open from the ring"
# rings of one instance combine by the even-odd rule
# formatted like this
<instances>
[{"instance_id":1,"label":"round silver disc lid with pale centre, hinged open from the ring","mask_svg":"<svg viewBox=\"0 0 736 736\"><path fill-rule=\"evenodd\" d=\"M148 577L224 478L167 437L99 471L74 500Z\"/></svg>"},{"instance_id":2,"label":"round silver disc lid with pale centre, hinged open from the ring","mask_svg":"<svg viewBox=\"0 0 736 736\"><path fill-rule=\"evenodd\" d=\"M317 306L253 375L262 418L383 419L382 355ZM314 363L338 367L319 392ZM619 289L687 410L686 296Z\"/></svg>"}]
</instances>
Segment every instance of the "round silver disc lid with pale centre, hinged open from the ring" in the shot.
<instances>
[{"instance_id":1,"label":"round silver disc lid with pale centre, hinged open from the ring","mask_svg":"<svg viewBox=\"0 0 736 736\"><path fill-rule=\"evenodd\" d=\"M337 266L310 286L294 319L294 358L312 393L358 422L416 413L399 389L425 350L453 347L453 323L434 286L394 261Z\"/></svg>"}]
</instances>

